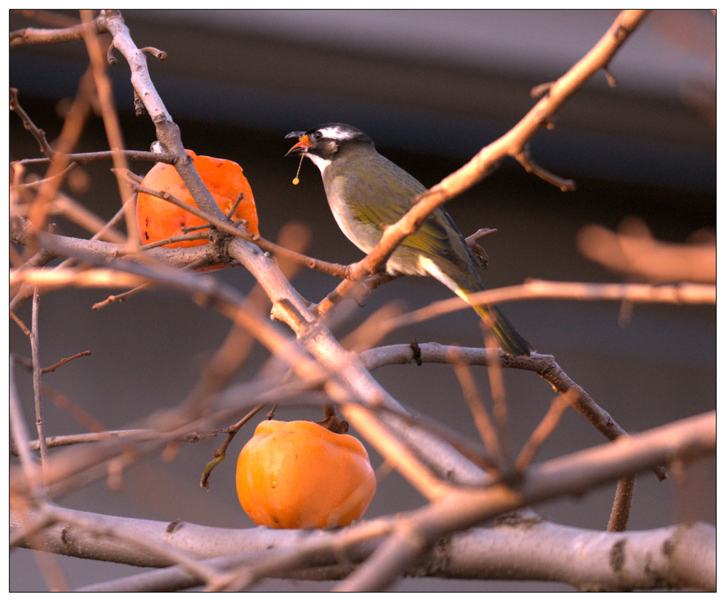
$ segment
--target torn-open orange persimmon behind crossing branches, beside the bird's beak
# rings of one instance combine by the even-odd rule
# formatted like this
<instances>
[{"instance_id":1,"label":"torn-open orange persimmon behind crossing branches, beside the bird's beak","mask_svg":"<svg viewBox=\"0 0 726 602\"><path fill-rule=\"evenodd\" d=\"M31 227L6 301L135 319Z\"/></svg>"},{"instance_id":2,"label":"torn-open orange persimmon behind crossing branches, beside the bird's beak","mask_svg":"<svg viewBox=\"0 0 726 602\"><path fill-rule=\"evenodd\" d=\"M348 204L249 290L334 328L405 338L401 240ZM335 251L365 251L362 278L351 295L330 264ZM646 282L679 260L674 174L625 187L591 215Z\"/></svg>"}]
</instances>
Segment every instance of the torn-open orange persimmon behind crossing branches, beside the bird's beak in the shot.
<instances>
[{"instance_id":1,"label":"torn-open orange persimmon behind crossing branches, beside the bird's beak","mask_svg":"<svg viewBox=\"0 0 726 602\"><path fill-rule=\"evenodd\" d=\"M234 161L197 155L192 150L187 150L187 155L194 160L197 173L206 184L222 213L227 215L234 203L237 203L240 192L242 193L242 200L237 203L237 208L231 217L232 219L245 219L248 223L248 231L259 234L255 199L247 178L242 175L242 168ZM168 192L191 206L197 206L187 190L187 186L181 181L181 176L176 173L176 168L168 163L156 163L144 176L142 186ZM139 235L144 245L184 234L185 228L197 227L205 223L207 222L204 219L154 195L139 192L136 199L136 224L138 224ZM182 240L168 243L165 246L195 247L206 244L208 244L208 240Z\"/></svg>"}]
</instances>

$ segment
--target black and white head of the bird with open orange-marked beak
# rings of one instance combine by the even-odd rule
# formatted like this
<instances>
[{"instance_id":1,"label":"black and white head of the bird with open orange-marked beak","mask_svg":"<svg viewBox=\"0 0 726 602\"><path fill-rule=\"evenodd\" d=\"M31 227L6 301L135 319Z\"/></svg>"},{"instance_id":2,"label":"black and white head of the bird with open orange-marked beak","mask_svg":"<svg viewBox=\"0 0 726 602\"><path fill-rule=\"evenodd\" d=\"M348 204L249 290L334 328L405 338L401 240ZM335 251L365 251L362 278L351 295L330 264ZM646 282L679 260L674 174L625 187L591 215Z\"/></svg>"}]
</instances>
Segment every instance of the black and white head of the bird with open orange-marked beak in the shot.
<instances>
[{"instance_id":1,"label":"black and white head of the bird with open orange-marked beak","mask_svg":"<svg viewBox=\"0 0 726 602\"><path fill-rule=\"evenodd\" d=\"M321 172L340 156L343 148L350 145L373 147L373 141L366 134L346 123L324 123L308 131L291 131L285 138L298 139L285 156L305 155Z\"/></svg>"}]
</instances>

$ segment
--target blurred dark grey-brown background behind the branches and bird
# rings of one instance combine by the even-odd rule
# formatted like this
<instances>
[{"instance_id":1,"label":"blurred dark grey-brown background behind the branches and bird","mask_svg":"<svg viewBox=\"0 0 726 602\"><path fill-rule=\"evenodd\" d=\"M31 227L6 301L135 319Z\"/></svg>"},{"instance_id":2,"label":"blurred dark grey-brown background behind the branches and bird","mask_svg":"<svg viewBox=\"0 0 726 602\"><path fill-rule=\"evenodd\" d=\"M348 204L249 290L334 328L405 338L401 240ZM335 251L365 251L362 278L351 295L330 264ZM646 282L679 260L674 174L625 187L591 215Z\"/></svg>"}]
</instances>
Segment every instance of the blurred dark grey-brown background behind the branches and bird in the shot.
<instances>
[{"instance_id":1,"label":"blurred dark grey-brown background behind the branches and bird","mask_svg":"<svg viewBox=\"0 0 726 602\"><path fill-rule=\"evenodd\" d=\"M200 155L240 163L250 181L260 232L274 240L289 221L308 224L308 253L347 263L359 251L338 231L319 172L285 158L285 134L327 121L358 126L380 152L431 186L459 168L481 147L505 134L534 105L530 90L553 81L592 48L616 18L614 11L447 10L239 10L123 11L137 46L168 53L148 58L152 80L181 128L184 146ZM9 28L52 27L73 12L11 12ZM54 22L55 20L55 22ZM620 282L621 274L584 259L576 237L587 224L617 229L629 216L642 219L659 240L685 243L715 233L716 20L710 11L658 11L624 44L610 65L618 86L603 73L560 110L551 131L531 142L534 160L576 181L560 192L526 174L513 160L447 206L462 232L480 227L497 234L482 241L489 253L484 277L491 288L527 278ZM148 150L155 139L147 115L134 116L129 67L109 68L126 147ZM62 107L76 94L88 65L81 41L20 46L9 52L10 85L48 138L62 127ZM36 157L38 145L9 115L11 160ZM106 150L102 122L92 118L79 151ZM91 164L65 191L104 219L118 211L118 188L110 163ZM133 163L143 175L150 165ZM43 168L36 168L43 173ZM84 235L59 220L60 232ZM244 269L214 274L239 290L253 280ZM337 284L326 274L303 270L293 281L311 301ZM108 293L120 291L108 291ZM41 365L86 349L78 359L44 377L106 428L123 428L150 411L171 407L194 386L200 366L219 346L229 323L188 298L156 290L100 311L91 305L107 291L71 290L41 298ZM402 300L415 309L450 293L431 279L400 279L370 296L336 331L343 335L375 309ZM625 325L613 303L526 301L507 304L505 314L538 351L560 367L628 431L643 431L712 410L716 399L714 306L635 306ZM30 324L30 304L17 312ZM481 346L476 314L458 312L396 331L385 343L436 341ZM14 323L9 347L30 357L27 338ZM256 374L261 349L237 379ZM488 399L486 371L475 370ZM449 367L395 366L375 378L412 412L441 420L476 439L476 429ZM32 426L30 373L15 381ZM506 373L513 447L526 441L552 399L536 375ZM309 418L317 410L285 410L280 418ZM317 415L317 414L316 414ZM317 418L316 418L317 419ZM49 434L86 427L46 401ZM125 473L121 489L104 483L58 502L70 508L160 521L249 527L237 503L234 462L258 420L246 426L212 473L210 490L200 474L221 439L181 447L173 460L139 463ZM543 447L546 460L602 442L575 412ZM372 452L374 466L380 457ZM536 508L562 524L604 529L614 485ZM366 516L417 508L423 498L395 474L379 483ZM630 529L653 529L674 521L715 523L715 463L690 467L676 482L643 475L635 491ZM59 558L71 587L143 569ZM10 554L11 590L44 590L33 553ZM259 590L317 590L330 584L268 581ZM396 590L568 590L550 583L462 582L404 579Z\"/></svg>"}]
</instances>

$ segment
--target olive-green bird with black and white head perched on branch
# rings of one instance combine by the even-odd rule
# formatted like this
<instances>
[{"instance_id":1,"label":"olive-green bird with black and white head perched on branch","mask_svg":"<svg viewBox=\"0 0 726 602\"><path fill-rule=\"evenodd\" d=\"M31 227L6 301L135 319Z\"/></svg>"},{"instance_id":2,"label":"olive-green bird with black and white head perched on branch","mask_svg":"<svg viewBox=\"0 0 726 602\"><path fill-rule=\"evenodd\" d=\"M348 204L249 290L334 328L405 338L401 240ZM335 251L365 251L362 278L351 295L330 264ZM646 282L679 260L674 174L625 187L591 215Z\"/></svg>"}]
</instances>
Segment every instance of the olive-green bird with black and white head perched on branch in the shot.
<instances>
[{"instance_id":1,"label":"olive-green bird with black and white head perched on branch","mask_svg":"<svg viewBox=\"0 0 726 602\"><path fill-rule=\"evenodd\" d=\"M338 227L364 253L426 190L414 176L380 155L370 137L346 123L324 123L308 131L292 131L285 138L297 139L285 156L301 155L301 162L307 157L319 168ZM470 295L484 290L478 269L460 229L442 208L406 237L386 263L391 275L433 276L473 307L507 354L529 356L531 345L496 306L470 300Z\"/></svg>"}]
</instances>

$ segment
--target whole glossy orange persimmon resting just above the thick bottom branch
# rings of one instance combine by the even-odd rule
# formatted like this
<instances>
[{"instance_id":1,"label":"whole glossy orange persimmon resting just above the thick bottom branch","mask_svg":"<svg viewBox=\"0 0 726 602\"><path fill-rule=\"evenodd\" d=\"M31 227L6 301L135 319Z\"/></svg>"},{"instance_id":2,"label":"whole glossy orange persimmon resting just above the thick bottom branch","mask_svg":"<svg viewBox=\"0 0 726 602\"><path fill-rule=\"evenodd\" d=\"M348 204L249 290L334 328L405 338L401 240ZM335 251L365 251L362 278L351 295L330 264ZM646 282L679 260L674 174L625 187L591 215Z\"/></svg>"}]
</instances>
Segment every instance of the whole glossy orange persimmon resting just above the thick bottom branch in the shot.
<instances>
[{"instance_id":1,"label":"whole glossy orange persimmon resting just above the thick bottom branch","mask_svg":"<svg viewBox=\"0 0 726 602\"><path fill-rule=\"evenodd\" d=\"M375 493L368 454L354 436L307 420L265 420L237 460L237 497L258 525L346 526Z\"/></svg>"}]
</instances>

